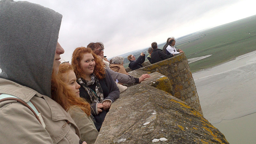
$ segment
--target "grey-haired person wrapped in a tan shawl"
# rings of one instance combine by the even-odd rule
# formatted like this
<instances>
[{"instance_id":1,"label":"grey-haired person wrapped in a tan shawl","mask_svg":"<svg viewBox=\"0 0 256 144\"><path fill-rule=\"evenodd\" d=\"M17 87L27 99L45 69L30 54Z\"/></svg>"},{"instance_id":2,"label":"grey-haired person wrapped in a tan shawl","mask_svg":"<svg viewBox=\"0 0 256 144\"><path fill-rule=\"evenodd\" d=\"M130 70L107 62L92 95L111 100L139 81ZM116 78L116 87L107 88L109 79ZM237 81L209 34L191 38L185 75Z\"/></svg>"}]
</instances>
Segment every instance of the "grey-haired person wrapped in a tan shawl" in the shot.
<instances>
[{"instance_id":1,"label":"grey-haired person wrapped in a tan shawl","mask_svg":"<svg viewBox=\"0 0 256 144\"><path fill-rule=\"evenodd\" d=\"M112 64L110 64L109 68L115 72L127 75L127 72L125 71L123 64L124 64L124 57L117 56L112 59Z\"/></svg>"}]
</instances>

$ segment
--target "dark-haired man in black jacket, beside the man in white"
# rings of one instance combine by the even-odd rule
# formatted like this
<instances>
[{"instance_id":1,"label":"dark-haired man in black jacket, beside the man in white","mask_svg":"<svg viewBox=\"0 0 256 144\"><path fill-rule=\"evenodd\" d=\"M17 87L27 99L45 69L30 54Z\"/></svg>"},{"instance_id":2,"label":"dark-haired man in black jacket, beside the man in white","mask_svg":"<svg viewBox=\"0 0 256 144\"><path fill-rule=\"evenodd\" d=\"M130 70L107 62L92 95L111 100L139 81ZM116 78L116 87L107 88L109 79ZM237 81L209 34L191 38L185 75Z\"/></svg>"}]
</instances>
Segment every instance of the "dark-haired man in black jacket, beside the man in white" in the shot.
<instances>
[{"instance_id":1,"label":"dark-haired man in black jacket, beside the man in white","mask_svg":"<svg viewBox=\"0 0 256 144\"><path fill-rule=\"evenodd\" d=\"M152 63L156 63L158 61L165 60L165 59L168 59L168 58L171 58L174 56L173 54L167 55L164 52L162 52L162 50L158 49L156 42L153 42L151 44L151 47L153 48L153 52L151 53L151 62Z\"/></svg>"}]
</instances>

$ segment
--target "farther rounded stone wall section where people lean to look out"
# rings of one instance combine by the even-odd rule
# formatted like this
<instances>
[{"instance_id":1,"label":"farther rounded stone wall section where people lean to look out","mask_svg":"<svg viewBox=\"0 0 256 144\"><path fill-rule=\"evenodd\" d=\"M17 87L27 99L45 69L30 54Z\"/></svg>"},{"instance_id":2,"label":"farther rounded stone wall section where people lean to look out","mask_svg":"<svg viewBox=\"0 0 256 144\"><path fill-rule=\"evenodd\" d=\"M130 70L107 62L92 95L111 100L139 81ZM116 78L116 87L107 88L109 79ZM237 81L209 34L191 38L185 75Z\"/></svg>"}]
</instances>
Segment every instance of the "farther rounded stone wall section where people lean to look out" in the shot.
<instances>
[{"instance_id":1,"label":"farther rounded stone wall section where people lean to look out","mask_svg":"<svg viewBox=\"0 0 256 144\"><path fill-rule=\"evenodd\" d=\"M143 73L153 72L159 72L169 78L171 87L168 93L186 102L188 106L195 108L203 114L196 92L196 85L184 52L172 58L130 71L128 74L139 77Z\"/></svg>"}]
</instances>

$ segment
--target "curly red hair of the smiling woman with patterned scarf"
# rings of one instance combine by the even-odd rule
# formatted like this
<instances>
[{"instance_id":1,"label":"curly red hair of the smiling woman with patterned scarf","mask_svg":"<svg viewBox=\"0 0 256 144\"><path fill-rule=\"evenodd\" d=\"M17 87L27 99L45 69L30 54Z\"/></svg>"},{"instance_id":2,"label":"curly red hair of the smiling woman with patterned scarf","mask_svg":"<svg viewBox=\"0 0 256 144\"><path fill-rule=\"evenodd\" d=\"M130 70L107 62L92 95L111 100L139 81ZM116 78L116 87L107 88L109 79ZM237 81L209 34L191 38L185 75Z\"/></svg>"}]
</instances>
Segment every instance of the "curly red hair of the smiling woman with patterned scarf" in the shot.
<instances>
[{"instance_id":1,"label":"curly red hair of the smiling woman with patterned scarf","mask_svg":"<svg viewBox=\"0 0 256 144\"><path fill-rule=\"evenodd\" d=\"M92 51L90 48L86 47L78 47L72 54L71 65L74 69L77 78L85 78L83 69L81 68L80 61L83 59L85 53L91 53L94 61L95 67L93 70L93 74L98 79L103 79L105 77L105 68L102 64L102 61L98 58L98 56Z\"/></svg>"}]
</instances>

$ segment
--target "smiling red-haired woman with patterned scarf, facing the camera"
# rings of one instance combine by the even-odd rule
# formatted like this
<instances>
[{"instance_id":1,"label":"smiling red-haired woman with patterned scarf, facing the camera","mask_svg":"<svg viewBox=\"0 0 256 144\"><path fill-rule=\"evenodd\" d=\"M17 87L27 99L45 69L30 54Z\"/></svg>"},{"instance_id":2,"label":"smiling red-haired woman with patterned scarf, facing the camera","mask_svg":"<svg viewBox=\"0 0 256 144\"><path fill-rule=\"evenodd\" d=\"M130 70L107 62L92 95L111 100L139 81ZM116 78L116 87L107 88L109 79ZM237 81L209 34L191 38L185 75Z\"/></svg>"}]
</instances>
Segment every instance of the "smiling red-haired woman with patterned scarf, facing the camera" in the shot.
<instances>
[{"instance_id":1,"label":"smiling red-haired woman with patterned scarf, facing the camera","mask_svg":"<svg viewBox=\"0 0 256 144\"><path fill-rule=\"evenodd\" d=\"M119 98L119 89L101 60L90 48L78 47L72 54L71 65L81 86L80 97L91 105L98 131L111 104Z\"/></svg>"}]
</instances>

